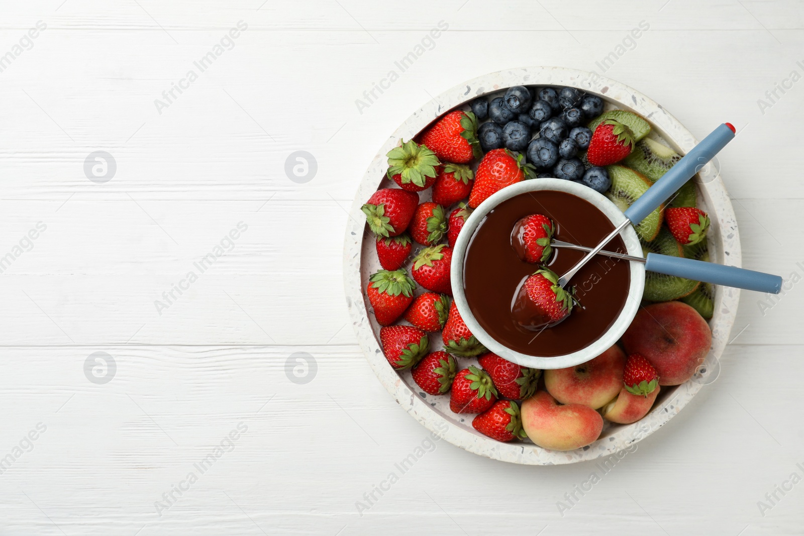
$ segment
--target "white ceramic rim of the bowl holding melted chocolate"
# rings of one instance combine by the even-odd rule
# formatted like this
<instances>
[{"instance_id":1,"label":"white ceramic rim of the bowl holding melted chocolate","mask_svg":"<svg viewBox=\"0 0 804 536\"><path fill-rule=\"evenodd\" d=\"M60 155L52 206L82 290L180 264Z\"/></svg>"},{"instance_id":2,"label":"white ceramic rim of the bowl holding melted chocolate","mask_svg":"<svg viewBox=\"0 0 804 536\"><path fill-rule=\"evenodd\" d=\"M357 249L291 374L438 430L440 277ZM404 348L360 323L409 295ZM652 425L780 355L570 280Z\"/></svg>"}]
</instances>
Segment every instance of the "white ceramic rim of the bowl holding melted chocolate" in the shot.
<instances>
[{"instance_id":1,"label":"white ceramic rim of the bowl holding melted chocolate","mask_svg":"<svg viewBox=\"0 0 804 536\"><path fill-rule=\"evenodd\" d=\"M630 285L626 304L623 305L620 314L617 316L617 320L609 326L609 329L603 333L601 338L585 348L572 352L572 354L544 358L535 355L521 354L516 350L511 350L511 348L504 346L501 342L494 340L494 338L486 333L486 329L483 329L482 325L478 323L472 313L472 309L470 309L469 304L466 303L466 293L464 293L463 290L463 261L466 257L466 249L469 247L474 231L494 207L497 207L500 203L503 203L503 201L516 197L519 194L525 194L536 190L557 190L585 199L600 209L609 221L613 223L614 227L626 221L626 216L614 203L609 201L608 198L577 182L564 181L560 178L536 178L529 181L517 182L491 195L486 201L480 203L480 206L466 219L466 223L464 223L461 228L461 234L458 235L457 241L455 242L450 278L452 279L453 298L457 305L457 310L461 313L463 321L466 322L466 327L469 328L478 341L483 343L483 346L486 346L486 348L494 352L494 354L522 366L528 366L534 369L562 369L566 366L580 365L580 363L585 363L589 361L589 359L596 358L606 349L613 346L620 339L622 333L626 333L626 329L628 329L631 321L634 320L634 316L639 309L639 304L642 301L642 289L645 287L645 265L636 262L629 263ZM634 231L633 226L629 225L626 227L620 233L620 236L623 242L626 243L626 250L629 255L642 257L642 246L639 243L637 232ZM558 275L560 276L561 274ZM570 284L572 284L572 281Z\"/></svg>"}]
</instances>

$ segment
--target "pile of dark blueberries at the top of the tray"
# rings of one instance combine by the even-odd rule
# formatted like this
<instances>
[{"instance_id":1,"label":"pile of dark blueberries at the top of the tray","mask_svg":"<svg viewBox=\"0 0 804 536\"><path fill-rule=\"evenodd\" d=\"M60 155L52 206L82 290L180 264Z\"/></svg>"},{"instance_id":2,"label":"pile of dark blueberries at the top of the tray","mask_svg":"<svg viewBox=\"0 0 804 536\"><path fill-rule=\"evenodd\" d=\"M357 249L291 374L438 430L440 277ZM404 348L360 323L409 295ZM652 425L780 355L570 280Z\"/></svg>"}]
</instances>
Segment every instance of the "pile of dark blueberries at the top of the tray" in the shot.
<instances>
[{"instance_id":1,"label":"pile of dark blueberries at the top of the tray","mask_svg":"<svg viewBox=\"0 0 804 536\"><path fill-rule=\"evenodd\" d=\"M576 181L601 194L611 186L605 168L585 169L578 156L589 148L592 131L586 123L603 113L603 100L577 88L513 86L505 96L490 102L479 97L470 103L478 121L484 152L505 147L522 152L535 166L537 178L555 177Z\"/></svg>"}]
</instances>

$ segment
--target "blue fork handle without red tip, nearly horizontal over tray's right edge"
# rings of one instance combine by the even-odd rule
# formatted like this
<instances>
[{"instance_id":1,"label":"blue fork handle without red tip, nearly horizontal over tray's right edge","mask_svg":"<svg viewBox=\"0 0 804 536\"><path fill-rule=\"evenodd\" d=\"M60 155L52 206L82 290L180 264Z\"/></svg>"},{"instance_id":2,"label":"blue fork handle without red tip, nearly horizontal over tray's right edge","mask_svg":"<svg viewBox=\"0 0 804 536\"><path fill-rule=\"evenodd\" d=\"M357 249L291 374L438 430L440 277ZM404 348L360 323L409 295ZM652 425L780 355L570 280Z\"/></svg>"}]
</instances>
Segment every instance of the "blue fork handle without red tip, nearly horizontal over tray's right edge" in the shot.
<instances>
[{"instance_id":1,"label":"blue fork handle without red tip, nearly horizontal over tray's right edge","mask_svg":"<svg viewBox=\"0 0 804 536\"><path fill-rule=\"evenodd\" d=\"M779 276L735 266L708 263L703 260L648 253L645 269L667 276L685 277L727 287L756 290L760 293L778 294L781 291L781 277Z\"/></svg>"}]
</instances>

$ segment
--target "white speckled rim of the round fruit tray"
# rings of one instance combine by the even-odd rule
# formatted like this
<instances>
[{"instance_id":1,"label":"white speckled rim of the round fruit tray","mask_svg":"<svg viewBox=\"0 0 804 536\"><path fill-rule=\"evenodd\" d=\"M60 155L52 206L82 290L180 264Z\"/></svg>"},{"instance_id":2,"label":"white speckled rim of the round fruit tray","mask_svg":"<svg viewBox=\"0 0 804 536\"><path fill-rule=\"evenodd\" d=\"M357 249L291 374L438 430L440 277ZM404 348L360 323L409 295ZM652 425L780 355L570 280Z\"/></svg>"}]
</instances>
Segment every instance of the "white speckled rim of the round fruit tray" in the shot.
<instances>
[{"instance_id":1,"label":"white speckled rim of the round fruit tray","mask_svg":"<svg viewBox=\"0 0 804 536\"><path fill-rule=\"evenodd\" d=\"M595 460L628 448L650 436L686 406L704 383L696 383L692 380L683 383L675 388L672 396L656 403L643 419L634 424L619 427L612 433L601 436L600 439L585 448L560 452L540 448L530 443L501 443L475 432L470 425L447 419L411 391L384 358L363 299L361 254L366 225L360 207L377 190L379 182L384 176L387 168L385 154L399 142L400 138L410 139L445 111L464 104L476 96L519 84L570 86L604 96L607 100L616 102L620 108L647 117L654 127L654 131L681 153L687 153L698 142L675 117L667 113L667 110L654 100L650 100L625 84L590 72L560 67L517 68L479 76L451 88L430 100L411 117L408 117L408 120L404 121L400 128L396 129L396 132L385 141L363 176L352 203L351 217L347 223L344 242L343 280L347 306L359 344L380 383L388 389L400 406L437 436L480 456L516 464L553 465ZM712 219L712 231L709 238L712 262L739 267L741 265L740 238L734 210L722 178L716 175L711 182L699 185L699 195L703 197L710 219ZM712 350L708 360L716 361L723 353L736 317L739 299L739 289L716 288L715 313L709 323L712 327Z\"/></svg>"}]
</instances>

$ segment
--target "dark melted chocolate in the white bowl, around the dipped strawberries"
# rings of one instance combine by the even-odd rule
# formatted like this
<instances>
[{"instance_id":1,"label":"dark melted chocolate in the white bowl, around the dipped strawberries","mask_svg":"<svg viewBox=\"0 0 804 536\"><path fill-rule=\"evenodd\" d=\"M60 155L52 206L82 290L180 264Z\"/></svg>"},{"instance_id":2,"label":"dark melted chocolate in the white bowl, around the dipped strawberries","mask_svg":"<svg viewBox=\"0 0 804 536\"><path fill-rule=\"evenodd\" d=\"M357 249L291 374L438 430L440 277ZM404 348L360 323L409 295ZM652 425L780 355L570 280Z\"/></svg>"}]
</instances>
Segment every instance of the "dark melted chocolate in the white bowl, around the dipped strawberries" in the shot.
<instances>
[{"instance_id":1,"label":"dark melted chocolate in the white bowl, around the dipped strawberries","mask_svg":"<svg viewBox=\"0 0 804 536\"><path fill-rule=\"evenodd\" d=\"M539 357L572 354L601 338L617 320L629 293L629 263L596 256L570 281L579 301L572 314L541 331L524 328L511 314L512 300L519 284L539 266L519 258L511 245L511 231L519 219L531 214L552 219L555 239L583 246L595 246L614 229L602 211L568 192L535 190L509 198L482 219L466 248L466 302L486 333L511 350ZM606 248L626 252L620 236ZM584 255L553 248L547 266L560 276Z\"/></svg>"}]
</instances>

